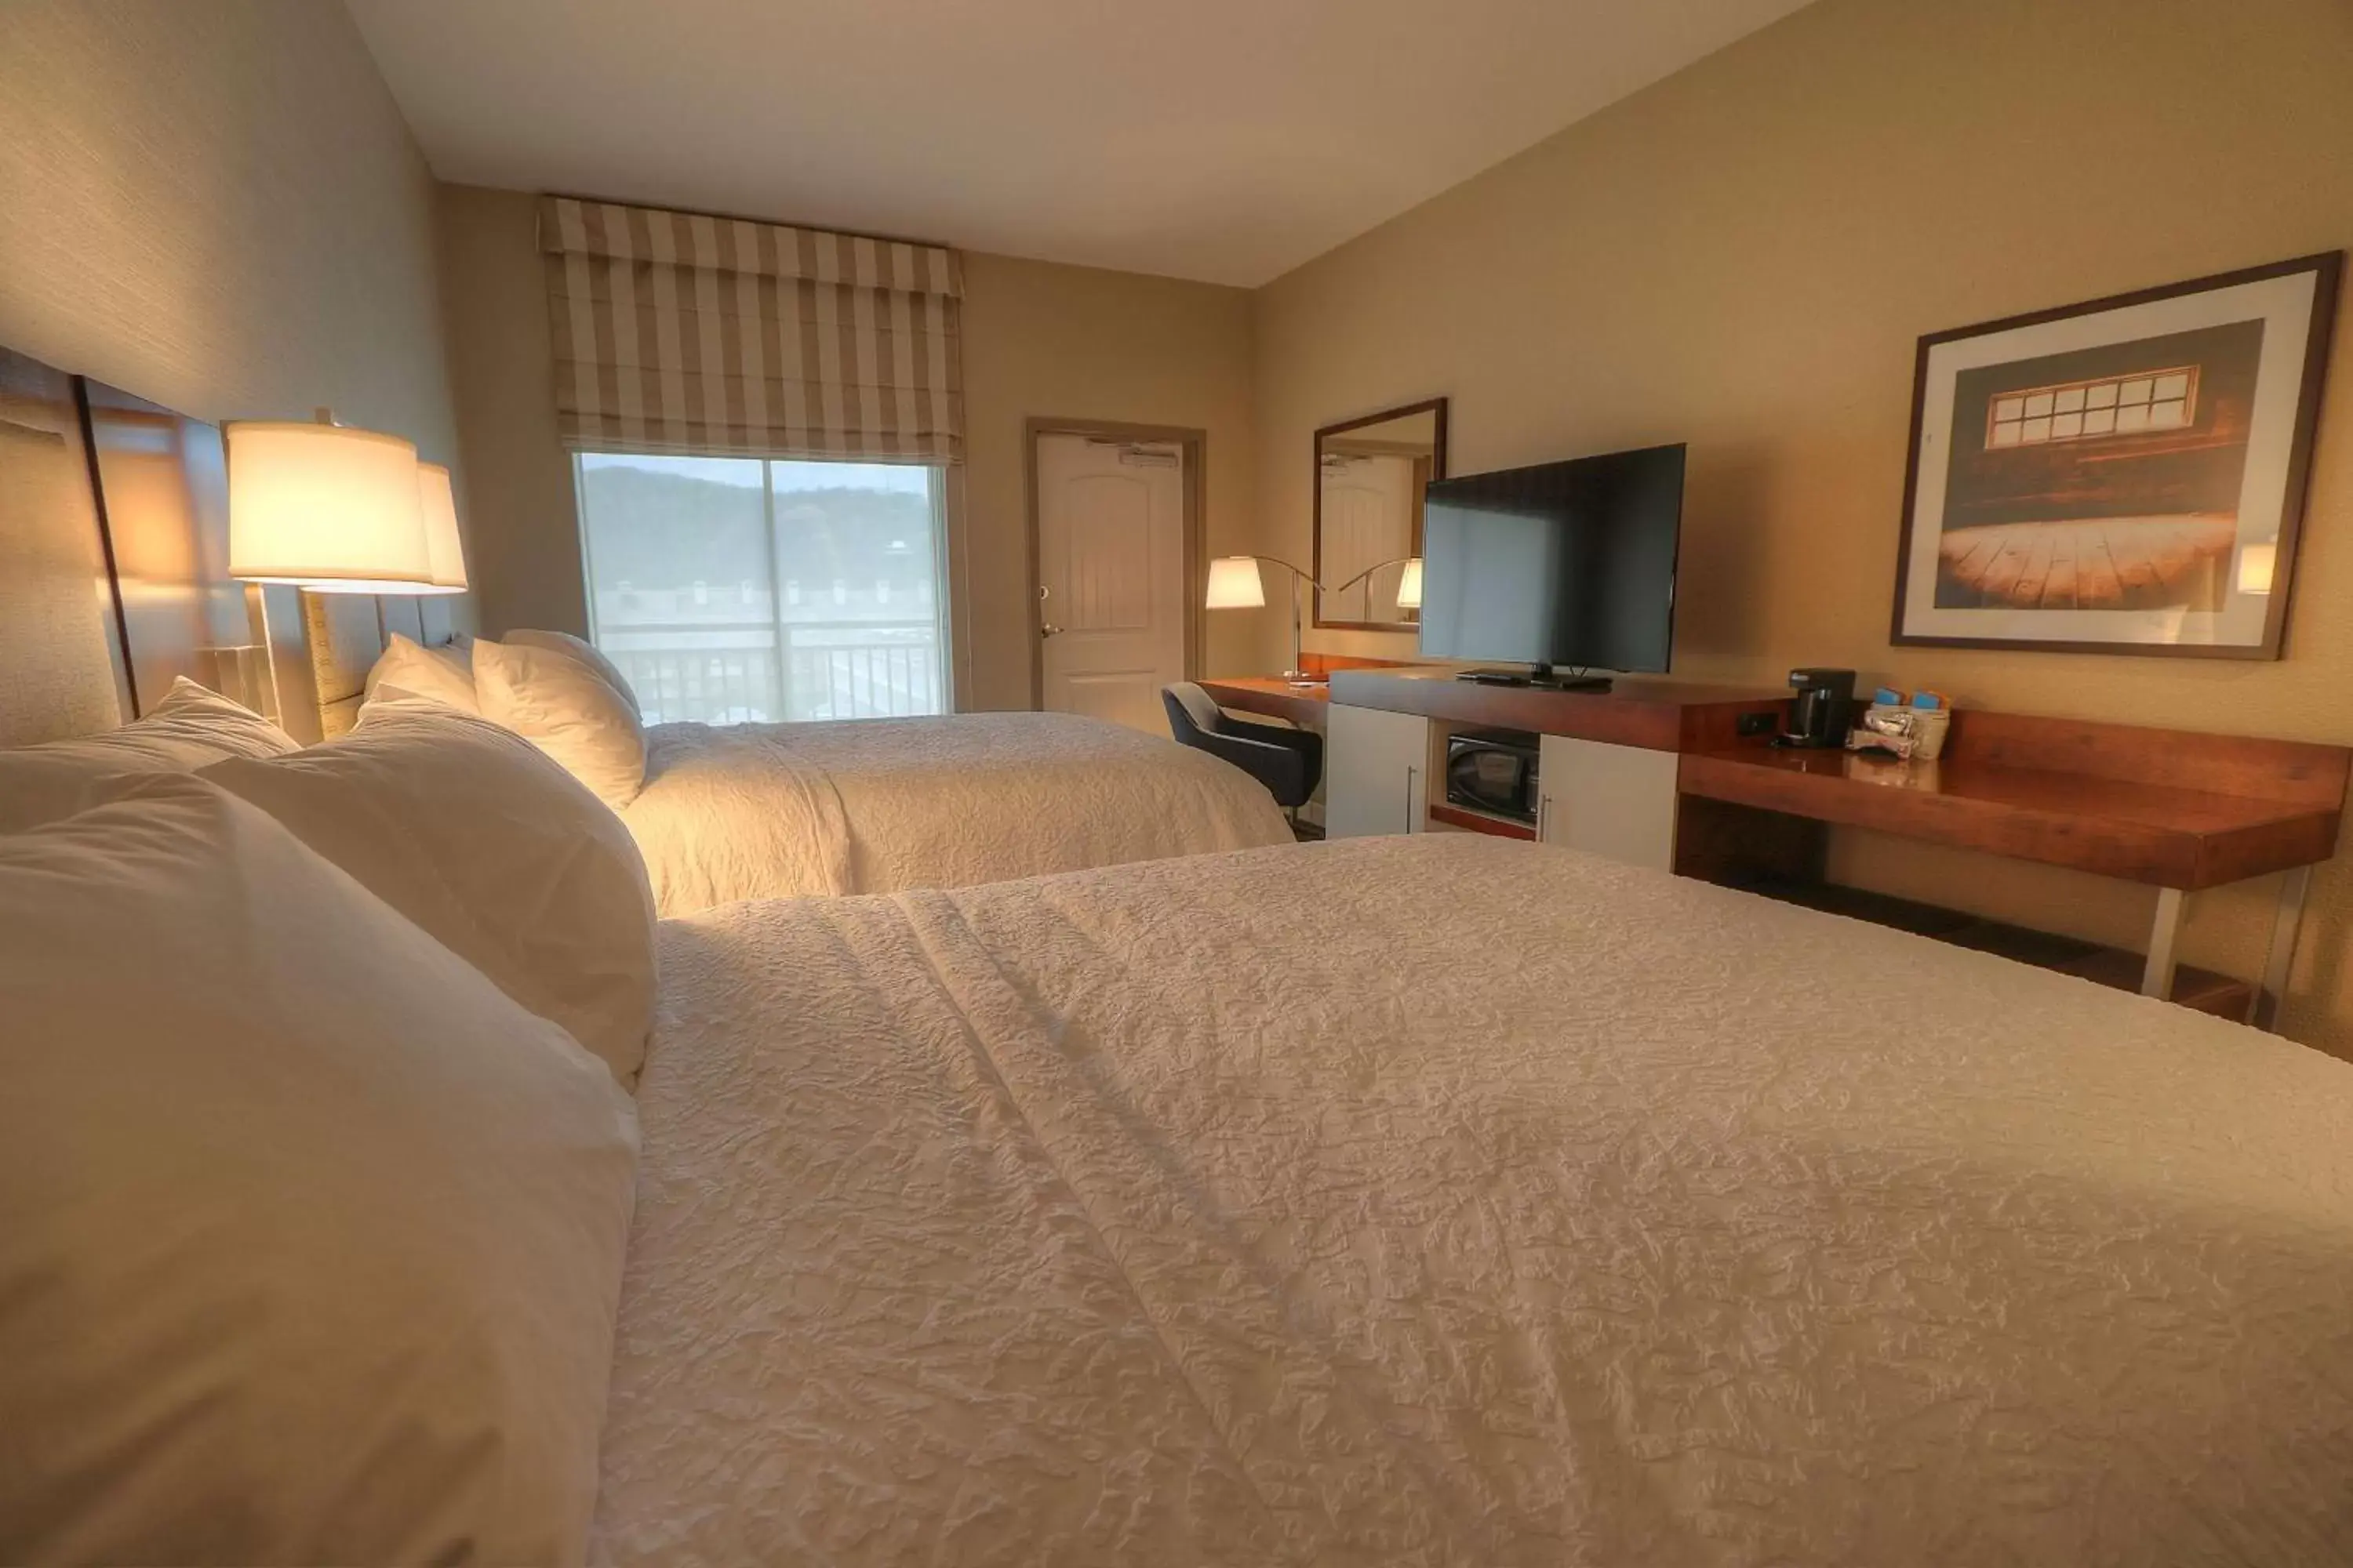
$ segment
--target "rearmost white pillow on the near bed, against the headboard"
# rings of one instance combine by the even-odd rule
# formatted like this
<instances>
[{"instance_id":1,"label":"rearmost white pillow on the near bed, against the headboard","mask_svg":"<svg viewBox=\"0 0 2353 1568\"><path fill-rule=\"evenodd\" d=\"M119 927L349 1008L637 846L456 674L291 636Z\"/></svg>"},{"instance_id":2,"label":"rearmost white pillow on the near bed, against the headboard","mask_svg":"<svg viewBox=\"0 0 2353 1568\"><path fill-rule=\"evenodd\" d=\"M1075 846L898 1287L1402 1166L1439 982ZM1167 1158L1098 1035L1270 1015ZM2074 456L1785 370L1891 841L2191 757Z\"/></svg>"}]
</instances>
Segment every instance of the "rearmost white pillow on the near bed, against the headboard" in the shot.
<instances>
[{"instance_id":1,"label":"rearmost white pillow on the near bed, against the headboard","mask_svg":"<svg viewBox=\"0 0 2353 1568\"><path fill-rule=\"evenodd\" d=\"M188 773L224 757L280 757L294 745L252 708L181 675L153 712L122 729L0 752L0 832L73 816L108 778Z\"/></svg>"}]
</instances>

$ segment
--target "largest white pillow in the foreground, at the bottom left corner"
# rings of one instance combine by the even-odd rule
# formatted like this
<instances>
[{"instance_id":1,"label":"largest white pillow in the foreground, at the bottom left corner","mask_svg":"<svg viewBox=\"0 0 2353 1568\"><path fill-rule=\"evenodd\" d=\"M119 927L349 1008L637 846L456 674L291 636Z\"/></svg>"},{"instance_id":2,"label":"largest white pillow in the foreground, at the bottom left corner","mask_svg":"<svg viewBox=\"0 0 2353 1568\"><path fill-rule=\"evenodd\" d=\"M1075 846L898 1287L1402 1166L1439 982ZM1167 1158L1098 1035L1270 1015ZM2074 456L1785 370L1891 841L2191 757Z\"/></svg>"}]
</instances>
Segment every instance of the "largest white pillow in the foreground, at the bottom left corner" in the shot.
<instances>
[{"instance_id":1,"label":"largest white pillow in the foreground, at the bottom left corner","mask_svg":"<svg viewBox=\"0 0 2353 1568\"><path fill-rule=\"evenodd\" d=\"M635 1114L191 776L0 839L12 1561L579 1561Z\"/></svg>"}]
</instances>

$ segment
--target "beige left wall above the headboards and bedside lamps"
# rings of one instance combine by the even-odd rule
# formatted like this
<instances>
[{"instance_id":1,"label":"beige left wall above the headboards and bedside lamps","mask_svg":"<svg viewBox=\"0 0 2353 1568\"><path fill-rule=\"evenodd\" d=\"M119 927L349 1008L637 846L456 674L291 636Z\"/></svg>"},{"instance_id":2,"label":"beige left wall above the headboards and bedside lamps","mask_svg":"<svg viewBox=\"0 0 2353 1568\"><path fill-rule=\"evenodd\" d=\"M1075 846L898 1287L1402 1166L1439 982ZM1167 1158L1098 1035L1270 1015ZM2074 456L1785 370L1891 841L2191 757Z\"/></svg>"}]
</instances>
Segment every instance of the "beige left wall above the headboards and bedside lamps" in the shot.
<instances>
[{"instance_id":1,"label":"beige left wall above the headboards and bedside lamps","mask_svg":"<svg viewBox=\"0 0 2353 1568\"><path fill-rule=\"evenodd\" d=\"M344 7L0 7L0 343L452 461L433 179Z\"/></svg>"}]
</instances>

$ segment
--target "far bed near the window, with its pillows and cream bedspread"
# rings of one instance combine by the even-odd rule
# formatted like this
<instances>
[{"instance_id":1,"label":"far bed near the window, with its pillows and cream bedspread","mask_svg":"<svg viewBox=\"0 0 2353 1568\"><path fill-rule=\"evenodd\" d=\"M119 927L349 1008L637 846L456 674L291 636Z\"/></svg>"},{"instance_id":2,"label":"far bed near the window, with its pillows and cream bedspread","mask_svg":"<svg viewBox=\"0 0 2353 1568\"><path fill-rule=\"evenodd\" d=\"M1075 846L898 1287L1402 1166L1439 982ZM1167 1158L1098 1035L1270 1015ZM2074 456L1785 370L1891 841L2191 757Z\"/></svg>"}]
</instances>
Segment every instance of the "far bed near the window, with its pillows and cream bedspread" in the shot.
<instances>
[{"instance_id":1,"label":"far bed near the window, with its pillows and cream bedspread","mask_svg":"<svg viewBox=\"0 0 2353 1568\"><path fill-rule=\"evenodd\" d=\"M1101 719L645 726L626 677L574 637L525 630L471 654L402 639L376 649L365 621L313 616L322 693L365 679L541 745L628 823L664 914L1292 842L1273 797L1240 769ZM332 712L320 717L332 731Z\"/></svg>"}]
</instances>

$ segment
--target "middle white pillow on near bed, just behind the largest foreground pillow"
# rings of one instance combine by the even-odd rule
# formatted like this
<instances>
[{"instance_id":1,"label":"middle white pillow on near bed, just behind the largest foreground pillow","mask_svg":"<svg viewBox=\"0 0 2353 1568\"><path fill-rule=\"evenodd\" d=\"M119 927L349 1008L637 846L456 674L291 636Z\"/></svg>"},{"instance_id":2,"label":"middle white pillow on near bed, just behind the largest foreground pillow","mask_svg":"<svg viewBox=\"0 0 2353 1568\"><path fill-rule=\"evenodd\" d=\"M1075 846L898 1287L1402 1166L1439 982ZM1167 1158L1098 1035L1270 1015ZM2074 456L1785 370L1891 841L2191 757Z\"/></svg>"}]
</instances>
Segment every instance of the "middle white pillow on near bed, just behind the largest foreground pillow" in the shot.
<instances>
[{"instance_id":1,"label":"middle white pillow on near bed, just behind the largest foreground pillow","mask_svg":"<svg viewBox=\"0 0 2353 1568\"><path fill-rule=\"evenodd\" d=\"M645 860L532 743L426 698L379 698L325 745L202 776L638 1081L654 1027Z\"/></svg>"}]
</instances>

